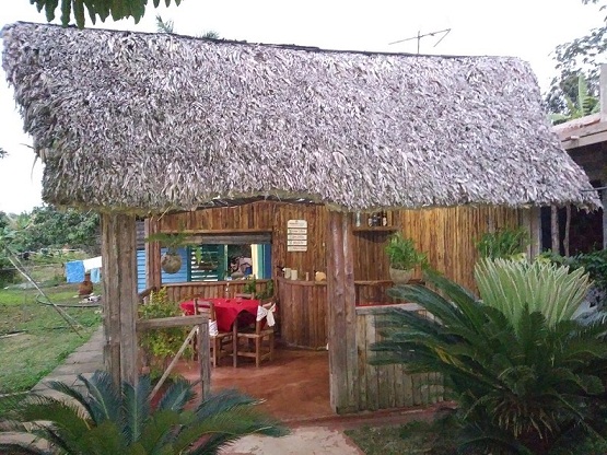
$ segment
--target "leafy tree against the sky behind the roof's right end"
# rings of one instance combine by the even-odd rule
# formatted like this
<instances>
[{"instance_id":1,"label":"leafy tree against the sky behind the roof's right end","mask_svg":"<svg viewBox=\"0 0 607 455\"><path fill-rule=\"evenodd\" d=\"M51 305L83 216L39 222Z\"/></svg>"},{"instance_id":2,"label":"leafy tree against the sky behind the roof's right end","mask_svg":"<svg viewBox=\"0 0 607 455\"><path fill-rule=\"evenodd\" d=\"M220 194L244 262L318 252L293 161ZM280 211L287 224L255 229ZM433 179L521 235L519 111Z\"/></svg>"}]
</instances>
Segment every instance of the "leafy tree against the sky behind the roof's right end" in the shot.
<instances>
[{"instance_id":1,"label":"leafy tree against the sky behind the roof's right end","mask_svg":"<svg viewBox=\"0 0 607 455\"><path fill-rule=\"evenodd\" d=\"M599 5L600 11L607 9L605 0L582 0L584 4ZM598 97L599 68L595 59L607 50L607 18L604 25L593 28L587 35L564 43L555 49L556 69L558 75L550 83L546 95L547 108L551 114L571 114L568 103L579 105L579 79L586 81L587 95Z\"/></svg>"}]
</instances>

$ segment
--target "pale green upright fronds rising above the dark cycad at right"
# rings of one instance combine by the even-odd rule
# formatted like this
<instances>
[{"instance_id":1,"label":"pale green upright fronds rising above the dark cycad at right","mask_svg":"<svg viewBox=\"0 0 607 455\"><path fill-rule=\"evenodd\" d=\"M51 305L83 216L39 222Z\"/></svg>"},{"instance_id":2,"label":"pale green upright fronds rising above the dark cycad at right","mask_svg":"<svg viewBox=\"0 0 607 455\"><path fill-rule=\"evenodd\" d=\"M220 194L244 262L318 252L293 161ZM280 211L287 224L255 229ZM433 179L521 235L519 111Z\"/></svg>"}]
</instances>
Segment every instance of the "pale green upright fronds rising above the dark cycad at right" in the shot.
<instances>
[{"instance_id":1,"label":"pale green upright fronds rising above the dark cycad at right","mask_svg":"<svg viewBox=\"0 0 607 455\"><path fill-rule=\"evenodd\" d=\"M584 269L535 261L481 259L475 279L482 303L500 312L516 329L525 310L539 312L549 326L571 319L586 296L590 281Z\"/></svg>"}]
</instances>

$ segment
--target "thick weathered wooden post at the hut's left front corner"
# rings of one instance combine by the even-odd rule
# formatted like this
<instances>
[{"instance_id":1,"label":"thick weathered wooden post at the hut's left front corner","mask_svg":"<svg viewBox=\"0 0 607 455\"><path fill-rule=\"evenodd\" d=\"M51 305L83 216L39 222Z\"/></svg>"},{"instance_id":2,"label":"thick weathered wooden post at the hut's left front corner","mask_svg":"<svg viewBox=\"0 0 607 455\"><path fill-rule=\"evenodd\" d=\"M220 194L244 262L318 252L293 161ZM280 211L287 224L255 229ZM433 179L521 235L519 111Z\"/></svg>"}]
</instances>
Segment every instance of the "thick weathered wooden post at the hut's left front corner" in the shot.
<instances>
[{"instance_id":1,"label":"thick weathered wooden post at the hut's left front corner","mask_svg":"<svg viewBox=\"0 0 607 455\"><path fill-rule=\"evenodd\" d=\"M104 361L116 384L138 377L137 243L133 215L102 213Z\"/></svg>"}]
</instances>

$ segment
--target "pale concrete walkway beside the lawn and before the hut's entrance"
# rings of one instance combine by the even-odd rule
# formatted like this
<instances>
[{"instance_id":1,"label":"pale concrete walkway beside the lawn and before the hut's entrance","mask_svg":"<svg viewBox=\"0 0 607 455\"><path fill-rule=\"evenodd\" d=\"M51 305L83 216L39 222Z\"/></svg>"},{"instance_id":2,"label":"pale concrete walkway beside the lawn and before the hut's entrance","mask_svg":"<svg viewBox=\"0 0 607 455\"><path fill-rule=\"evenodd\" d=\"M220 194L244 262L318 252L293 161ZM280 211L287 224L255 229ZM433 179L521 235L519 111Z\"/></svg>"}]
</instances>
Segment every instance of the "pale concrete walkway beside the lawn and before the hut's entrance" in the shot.
<instances>
[{"instance_id":1,"label":"pale concrete walkway beside the lawn and before the hut's entrance","mask_svg":"<svg viewBox=\"0 0 607 455\"><path fill-rule=\"evenodd\" d=\"M69 385L78 385L78 375L90 376L103 364L103 328L93 334L91 339L71 353L66 361L57 366L32 389L33 392L52 395L46 383L60 381ZM311 424L291 429L291 434L283 438L250 435L236 441L221 452L222 455L363 455L354 443L334 424L326 427Z\"/></svg>"}]
</instances>

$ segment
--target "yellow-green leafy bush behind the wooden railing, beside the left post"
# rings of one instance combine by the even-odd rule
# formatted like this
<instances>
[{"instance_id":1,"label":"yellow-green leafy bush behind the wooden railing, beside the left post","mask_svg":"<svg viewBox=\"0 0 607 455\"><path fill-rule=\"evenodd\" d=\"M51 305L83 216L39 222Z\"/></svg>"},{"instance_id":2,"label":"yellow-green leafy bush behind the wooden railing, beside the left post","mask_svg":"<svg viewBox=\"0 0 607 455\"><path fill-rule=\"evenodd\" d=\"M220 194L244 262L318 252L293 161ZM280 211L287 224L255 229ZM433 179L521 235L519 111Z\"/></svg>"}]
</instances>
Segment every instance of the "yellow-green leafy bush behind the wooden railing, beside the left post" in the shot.
<instances>
[{"instance_id":1,"label":"yellow-green leafy bush behind the wooden railing, beside the left post","mask_svg":"<svg viewBox=\"0 0 607 455\"><path fill-rule=\"evenodd\" d=\"M139 306L139 316L142 319L179 315L179 307L175 302L168 300L166 288L152 292L149 302ZM162 374L166 361L171 361L177 354L187 334L186 327L145 330L141 334L140 342L150 354L149 360L153 375ZM191 350L186 350L185 355L191 355Z\"/></svg>"}]
</instances>

